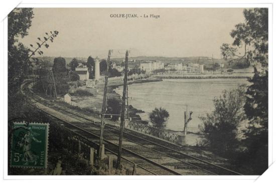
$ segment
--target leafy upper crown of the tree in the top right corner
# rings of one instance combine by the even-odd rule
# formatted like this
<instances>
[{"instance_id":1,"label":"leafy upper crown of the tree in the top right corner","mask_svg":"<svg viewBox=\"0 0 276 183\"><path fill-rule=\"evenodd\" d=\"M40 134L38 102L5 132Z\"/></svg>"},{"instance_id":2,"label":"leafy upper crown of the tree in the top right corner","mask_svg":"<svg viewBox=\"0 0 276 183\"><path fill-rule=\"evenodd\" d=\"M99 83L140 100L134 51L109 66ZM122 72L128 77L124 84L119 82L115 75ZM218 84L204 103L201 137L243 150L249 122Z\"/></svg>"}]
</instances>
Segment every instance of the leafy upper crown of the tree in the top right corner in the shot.
<instances>
[{"instance_id":1,"label":"leafy upper crown of the tree in the top right corner","mask_svg":"<svg viewBox=\"0 0 276 183\"><path fill-rule=\"evenodd\" d=\"M236 56L244 58L246 63L259 62L262 66L268 65L268 8L249 8L243 10L244 23L235 25L230 32L234 38L232 47L227 43L221 46L224 59ZM244 46L244 54L237 54L237 47ZM231 61L231 59L230 59Z\"/></svg>"}]
</instances>

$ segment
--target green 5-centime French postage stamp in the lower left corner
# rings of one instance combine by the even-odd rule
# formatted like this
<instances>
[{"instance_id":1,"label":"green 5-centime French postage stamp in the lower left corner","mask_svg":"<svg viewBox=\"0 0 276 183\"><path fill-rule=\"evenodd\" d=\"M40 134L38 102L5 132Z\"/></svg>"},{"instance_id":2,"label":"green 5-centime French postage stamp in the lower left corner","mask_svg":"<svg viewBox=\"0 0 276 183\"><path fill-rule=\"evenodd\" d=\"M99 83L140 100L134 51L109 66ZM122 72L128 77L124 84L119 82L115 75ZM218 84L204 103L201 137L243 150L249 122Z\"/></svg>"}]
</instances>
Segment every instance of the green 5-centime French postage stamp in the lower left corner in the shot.
<instances>
[{"instance_id":1,"label":"green 5-centime French postage stamp in the lower left corner","mask_svg":"<svg viewBox=\"0 0 276 183\"><path fill-rule=\"evenodd\" d=\"M12 137L12 167L47 168L49 123L15 122Z\"/></svg>"}]
</instances>

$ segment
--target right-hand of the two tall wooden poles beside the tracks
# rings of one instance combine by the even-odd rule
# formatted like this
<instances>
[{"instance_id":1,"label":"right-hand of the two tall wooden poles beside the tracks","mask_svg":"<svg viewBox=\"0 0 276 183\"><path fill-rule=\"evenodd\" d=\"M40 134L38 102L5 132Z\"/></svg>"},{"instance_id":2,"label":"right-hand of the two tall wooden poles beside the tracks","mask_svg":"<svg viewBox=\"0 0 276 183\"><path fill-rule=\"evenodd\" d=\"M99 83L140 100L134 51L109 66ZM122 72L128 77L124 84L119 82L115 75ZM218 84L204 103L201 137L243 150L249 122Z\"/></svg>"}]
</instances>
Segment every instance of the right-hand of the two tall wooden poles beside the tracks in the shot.
<instances>
[{"instance_id":1,"label":"right-hand of the two tall wooden poles beside the tracks","mask_svg":"<svg viewBox=\"0 0 276 183\"><path fill-rule=\"evenodd\" d=\"M125 110L125 95L127 87L127 62L128 62L128 50L125 52L125 63L124 63L124 80L123 80L123 92L122 92L122 109L121 109L121 124L120 124L120 136L119 136L119 147L118 147L118 157L117 157L117 168L121 164L121 150L122 150L122 135L124 127L124 110Z\"/></svg>"}]
</instances>

